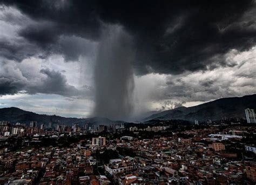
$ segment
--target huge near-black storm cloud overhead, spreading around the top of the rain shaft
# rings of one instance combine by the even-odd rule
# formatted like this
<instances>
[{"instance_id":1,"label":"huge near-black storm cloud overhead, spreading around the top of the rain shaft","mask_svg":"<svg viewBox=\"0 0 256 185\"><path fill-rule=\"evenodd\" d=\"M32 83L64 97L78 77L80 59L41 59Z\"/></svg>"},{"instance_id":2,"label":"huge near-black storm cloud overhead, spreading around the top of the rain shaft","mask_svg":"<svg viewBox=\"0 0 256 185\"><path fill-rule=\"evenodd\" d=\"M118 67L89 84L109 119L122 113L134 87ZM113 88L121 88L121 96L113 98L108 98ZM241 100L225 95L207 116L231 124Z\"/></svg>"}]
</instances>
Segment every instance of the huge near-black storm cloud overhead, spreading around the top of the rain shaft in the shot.
<instances>
[{"instance_id":1,"label":"huge near-black storm cloud overhead, spreading around the top of the rain shaft","mask_svg":"<svg viewBox=\"0 0 256 185\"><path fill-rule=\"evenodd\" d=\"M179 74L225 65L230 49L255 44L254 1L4 1L42 25L28 25L20 35L45 48L59 36L99 40L102 23L124 26L136 42L134 68ZM246 19L243 17L246 16ZM51 51L59 51L51 48ZM67 60L75 52L62 50ZM77 52L81 52L77 50ZM214 58L215 56L219 56Z\"/></svg>"}]
</instances>

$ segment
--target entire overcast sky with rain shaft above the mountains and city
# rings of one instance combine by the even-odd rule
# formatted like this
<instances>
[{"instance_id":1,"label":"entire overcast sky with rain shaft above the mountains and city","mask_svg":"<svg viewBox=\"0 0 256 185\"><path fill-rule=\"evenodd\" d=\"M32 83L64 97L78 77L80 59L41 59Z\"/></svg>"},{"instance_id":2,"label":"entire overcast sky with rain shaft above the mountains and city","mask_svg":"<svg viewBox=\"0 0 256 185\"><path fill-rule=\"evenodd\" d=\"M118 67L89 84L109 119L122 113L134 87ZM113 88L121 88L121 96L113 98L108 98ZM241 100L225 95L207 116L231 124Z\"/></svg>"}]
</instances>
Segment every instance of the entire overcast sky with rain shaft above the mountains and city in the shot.
<instances>
[{"instance_id":1,"label":"entire overcast sky with rain shaft above the mountains and city","mask_svg":"<svg viewBox=\"0 0 256 185\"><path fill-rule=\"evenodd\" d=\"M247 0L1 1L0 108L127 119L254 94L255 21Z\"/></svg>"}]
</instances>

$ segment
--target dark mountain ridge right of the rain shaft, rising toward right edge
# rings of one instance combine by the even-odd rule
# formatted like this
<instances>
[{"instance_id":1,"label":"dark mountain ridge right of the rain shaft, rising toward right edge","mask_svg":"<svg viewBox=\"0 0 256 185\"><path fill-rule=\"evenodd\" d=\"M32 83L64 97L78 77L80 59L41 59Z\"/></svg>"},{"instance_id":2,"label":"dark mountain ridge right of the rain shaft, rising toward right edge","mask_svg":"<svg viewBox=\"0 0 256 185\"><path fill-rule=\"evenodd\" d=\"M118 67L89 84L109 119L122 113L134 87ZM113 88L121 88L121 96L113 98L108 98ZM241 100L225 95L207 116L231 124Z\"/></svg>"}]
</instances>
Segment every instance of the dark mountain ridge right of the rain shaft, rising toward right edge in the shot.
<instances>
[{"instance_id":1,"label":"dark mountain ridge right of the rain shaft, rising toward right edge","mask_svg":"<svg viewBox=\"0 0 256 185\"><path fill-rule=\"evenodd\" d=\"M152 114L143 119L171 120L181 119L188 121L220 120L221 118L245 117L246 108L256 109L256 94L244 97L221 98L192 107L177 107L160 113Z\"/></svg>"}]
</instances>

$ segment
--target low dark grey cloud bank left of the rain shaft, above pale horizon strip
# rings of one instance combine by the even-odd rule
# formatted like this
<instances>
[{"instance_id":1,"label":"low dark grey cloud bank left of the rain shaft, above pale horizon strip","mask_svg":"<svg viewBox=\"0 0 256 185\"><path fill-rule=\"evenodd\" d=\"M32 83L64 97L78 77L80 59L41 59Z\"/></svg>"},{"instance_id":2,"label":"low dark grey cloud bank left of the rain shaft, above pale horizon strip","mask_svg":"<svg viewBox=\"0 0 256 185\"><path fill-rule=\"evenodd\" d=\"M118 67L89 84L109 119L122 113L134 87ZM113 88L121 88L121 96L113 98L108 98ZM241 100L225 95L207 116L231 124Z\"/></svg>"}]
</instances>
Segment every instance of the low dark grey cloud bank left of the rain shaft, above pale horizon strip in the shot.
<instances>
[{"instance_id":1,"label":"low dark grey cloud bank left of the rain shaft, above pale horizon strip","mask_svg":"<svg viewBox=\"0 0 256 185\"><path fill-rule=\"evenodd\" d=\"M74 86L68 84L66 77L62 73L43 68L37 77L23 76L25 71L20 71L10 63L3 63L0 69L0 95L17 94L25 92L28 94L44 93L59 94L65 97L83 97L92 95L90 87L84 87L79 91Z\"/></svg>"}]
</instances>

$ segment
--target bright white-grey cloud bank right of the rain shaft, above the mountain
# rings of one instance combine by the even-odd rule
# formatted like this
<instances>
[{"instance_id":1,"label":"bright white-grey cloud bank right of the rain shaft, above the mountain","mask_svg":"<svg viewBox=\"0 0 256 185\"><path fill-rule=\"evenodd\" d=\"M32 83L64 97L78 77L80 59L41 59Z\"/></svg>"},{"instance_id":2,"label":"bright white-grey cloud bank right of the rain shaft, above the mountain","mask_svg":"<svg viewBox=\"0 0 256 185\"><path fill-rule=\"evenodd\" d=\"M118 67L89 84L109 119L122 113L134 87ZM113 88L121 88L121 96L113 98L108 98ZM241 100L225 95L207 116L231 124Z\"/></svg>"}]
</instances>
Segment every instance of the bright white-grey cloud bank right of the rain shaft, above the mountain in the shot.
<instances>
[{"instance_id":1,"label":"bright white-grey cloud bank right of the rain shaft, above the mountain","mask_svg":"<svg viewBox=\"0 0 256 185\"><path fill-rule=\"evenodd\" d=\"M137 101L144 104L144 109L159 111L256 93L256 47L244 52L231 50L225 62L226 66L214 70L137 77Z\"/></svg>"}]
</instances>

